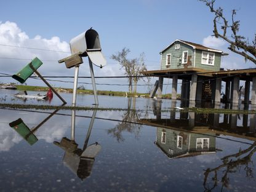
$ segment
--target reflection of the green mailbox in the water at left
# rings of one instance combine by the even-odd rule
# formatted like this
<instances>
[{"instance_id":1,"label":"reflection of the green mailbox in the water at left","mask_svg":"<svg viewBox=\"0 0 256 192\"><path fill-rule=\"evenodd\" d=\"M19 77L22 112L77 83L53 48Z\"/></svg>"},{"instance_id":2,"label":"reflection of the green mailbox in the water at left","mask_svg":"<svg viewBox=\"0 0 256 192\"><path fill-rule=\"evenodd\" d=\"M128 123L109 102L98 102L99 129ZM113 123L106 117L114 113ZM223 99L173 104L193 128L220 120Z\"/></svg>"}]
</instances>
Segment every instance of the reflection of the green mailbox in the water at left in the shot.
<instances>
[{"instance_id":1,"label":"reflection of the green mailbox in the water at left","mask_svg":"<svg viewBox=\"0 0 256 192\"><path fill-rule=\"evenodd\" d=\"M31 130L26 126L26 124L22 121L22 119L17 119L16 121L10 122L9 126L12 127L20 136L25 138L25 140L33 145L38 141L38 138L31 132Z\"/></svg>"}]
</instances>

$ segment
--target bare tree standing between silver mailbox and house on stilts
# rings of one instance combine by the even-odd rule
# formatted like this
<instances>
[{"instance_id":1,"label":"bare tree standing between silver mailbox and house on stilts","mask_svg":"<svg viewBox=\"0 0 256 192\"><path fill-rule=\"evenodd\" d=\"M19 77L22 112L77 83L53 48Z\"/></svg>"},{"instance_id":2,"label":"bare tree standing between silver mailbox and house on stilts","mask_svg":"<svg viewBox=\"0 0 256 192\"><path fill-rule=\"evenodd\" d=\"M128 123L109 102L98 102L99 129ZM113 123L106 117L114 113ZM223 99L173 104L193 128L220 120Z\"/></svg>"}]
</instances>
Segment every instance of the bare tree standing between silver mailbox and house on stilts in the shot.
<instances>
[{"instance_id":1,"label":"bare tree standing between silver mailbox and house on stilts","mask_svg":"<svg viewBox=\"0 0 256 192\"><path fill-rule=\"evenodd\" d=\"M129 54L130 50L124 47L121 52L118 52L116 55L111 55L113 60L116 60L122 68L125 70L125 74L129 79L129 92L132 93L132 83L134 83L134 94L137 92L137 82L142 77L142 71L146 71L146 65L144 63L145 54L140 54L140 57L129 59L127 55Z\"/></svg>"}]
</instances>

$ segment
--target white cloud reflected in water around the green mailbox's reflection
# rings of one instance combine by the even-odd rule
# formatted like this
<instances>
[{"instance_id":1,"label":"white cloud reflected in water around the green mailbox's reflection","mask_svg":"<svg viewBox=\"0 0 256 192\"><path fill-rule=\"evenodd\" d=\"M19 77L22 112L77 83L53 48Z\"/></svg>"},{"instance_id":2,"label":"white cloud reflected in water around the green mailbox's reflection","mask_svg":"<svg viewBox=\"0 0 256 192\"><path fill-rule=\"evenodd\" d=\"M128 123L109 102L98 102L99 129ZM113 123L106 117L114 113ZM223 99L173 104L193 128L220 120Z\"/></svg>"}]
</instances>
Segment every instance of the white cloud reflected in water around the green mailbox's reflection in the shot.
<instances>
[{"instance_id":1,"label":"white cloud reflected in water around the green mailbox's reflection","mask_svg":"<svg viewBox=\"0 0 256 192\"><path fill-rule=\"evenodd\" d=\"M22 118L26 126L28 126L29 129L33 129L45 118L47 118L47 116L49 116L49 114L31 113L29 111L17 111L17 113L15 113L12 110L1 110L0 112L0 152L9 151L12 146L24 141L22 136L20 136L17 132L15 132L14 129L12 129L12 127L9 126L9 122ZM58 116L55 114L48 121L42 124L42 126L39 127L36 132L34 132L34 135L36 135L38 140L44 140L47 143L60 140L62 137L64 137L67 130L70 129L70 121L71 117L63 119L63 116ZM79 123L79 119L77 122Z\"/></svg>"}]
</instances>

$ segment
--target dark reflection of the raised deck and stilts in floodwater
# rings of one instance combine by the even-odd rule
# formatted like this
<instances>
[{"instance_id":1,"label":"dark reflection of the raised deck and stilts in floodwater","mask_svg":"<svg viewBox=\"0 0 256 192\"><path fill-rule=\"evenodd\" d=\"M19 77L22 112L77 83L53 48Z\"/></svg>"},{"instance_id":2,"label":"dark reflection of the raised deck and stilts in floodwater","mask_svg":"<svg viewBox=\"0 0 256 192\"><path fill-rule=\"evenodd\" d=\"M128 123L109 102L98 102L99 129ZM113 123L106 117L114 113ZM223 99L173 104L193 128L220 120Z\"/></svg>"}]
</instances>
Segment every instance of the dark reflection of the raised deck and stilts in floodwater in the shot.
<instances>
[{"instance_id":1,"label":"dark reflection of the raised deck and stilts in floodwater","mask_svg":"<svg viewBox=\"0 0 256 192\"><path fill-rule=\"evenodd\" d=\"M170 118L162 118L161 115L161 102L159 105L154 107L154 115L156 118L152 119L140 119L145 124L151 124L154 126L167 126L175 127L178 129L196 130L206 129L209 131L215 130L215 134L233 135L236 137L249 138L254 140L256 137L256 114L220 114L220 113L194 113L194 112L183 112L175 111L174 108L177 106L177 102L172 101L170 111ZM194 106L193 102L181 103L182 107ZM206 104L207 105L207 104ZM220 108L220 105L214 106ZM231 106L231 109L238 110L238 105ZM253 106L251 110L255 110Z\"/></svg>"}]
</instances>

